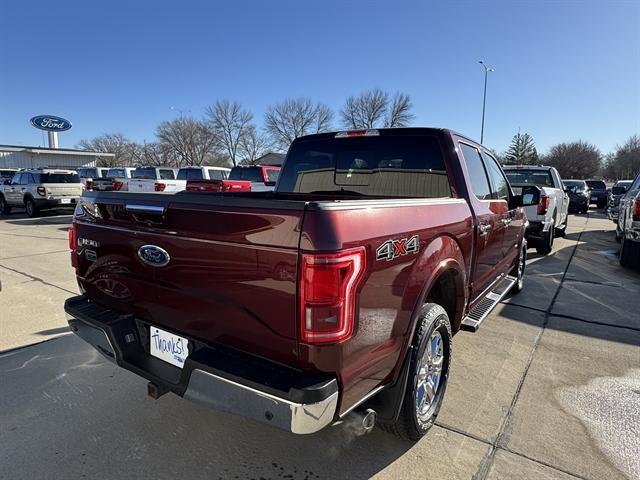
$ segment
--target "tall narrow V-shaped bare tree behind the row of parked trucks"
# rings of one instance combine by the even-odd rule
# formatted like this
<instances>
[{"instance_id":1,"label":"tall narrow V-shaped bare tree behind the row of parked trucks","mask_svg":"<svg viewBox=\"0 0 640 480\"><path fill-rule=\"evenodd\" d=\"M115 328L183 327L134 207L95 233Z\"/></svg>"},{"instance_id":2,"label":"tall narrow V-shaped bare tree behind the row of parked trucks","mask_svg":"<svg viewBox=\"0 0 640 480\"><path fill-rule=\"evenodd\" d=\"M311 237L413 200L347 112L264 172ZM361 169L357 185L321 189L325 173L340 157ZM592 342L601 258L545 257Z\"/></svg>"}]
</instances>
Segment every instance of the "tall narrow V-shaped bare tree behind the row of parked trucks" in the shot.
<instances>
[{"instance_id":1,"label":"tall narrow V-shaped bare tree behind the row of parked trucks","mask_svg":"<svg viewBox=\"0 0 640 480\"><path fill-rule=\"evenodd\" d=\"M237 102L227 99L218 100L206 111L214 134L218 137L219 146L231 160L238 164L238 154L241 144L248 130L252 128L253 114L243 110Z\"/></svg>"}]
</instances>

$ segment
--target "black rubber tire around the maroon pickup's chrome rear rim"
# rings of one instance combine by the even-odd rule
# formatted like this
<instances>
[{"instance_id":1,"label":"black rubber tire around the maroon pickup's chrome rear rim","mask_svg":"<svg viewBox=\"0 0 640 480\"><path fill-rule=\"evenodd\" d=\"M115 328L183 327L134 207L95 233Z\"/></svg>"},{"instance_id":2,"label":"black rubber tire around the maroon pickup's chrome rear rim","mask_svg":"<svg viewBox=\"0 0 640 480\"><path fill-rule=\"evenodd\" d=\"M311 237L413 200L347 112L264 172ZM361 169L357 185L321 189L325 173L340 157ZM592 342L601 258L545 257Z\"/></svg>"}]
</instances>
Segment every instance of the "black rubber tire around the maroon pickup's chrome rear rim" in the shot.
<instances>
[{"instance_id":1,"label":"black rubber tire around the maroon pickup's chrome rear rim","mask_svg":"<svg viewBox=\"0 0 640 480\"><path fill-rule=\"evenodd\" d=\"M433 335L439 334L442 340L442 369L437 380L435 395L429 404L425 416L419 418L417 402L419 394L419 376L423 371L421 361L427 345ZM436 337L437 339L437 337ZM433 426L444 398L451 364L451 323L447 312L440 305L427 303L422 307L413 340L413 350L409 365L409 378L402 399L400 415L395 422L379 422L383 430L406 440L420 440ZM430 372L431 367L425 372ZM429 377L427 377L429 378ZM425 382L426 384L427 382ZM424 390L426 394L426 388ZM424 394L423 394L424 395Z\"/></svg>"}]
</instances>

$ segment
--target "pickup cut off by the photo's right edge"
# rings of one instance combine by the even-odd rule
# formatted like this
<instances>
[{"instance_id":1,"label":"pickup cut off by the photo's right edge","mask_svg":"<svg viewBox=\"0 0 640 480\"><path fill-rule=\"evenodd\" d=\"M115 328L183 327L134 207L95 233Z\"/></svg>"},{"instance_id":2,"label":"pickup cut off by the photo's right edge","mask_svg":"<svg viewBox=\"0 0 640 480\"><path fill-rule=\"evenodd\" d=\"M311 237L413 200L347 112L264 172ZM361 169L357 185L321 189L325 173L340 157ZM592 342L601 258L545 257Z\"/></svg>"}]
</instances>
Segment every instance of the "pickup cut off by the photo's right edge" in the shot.
<instances>
[{"instance_id":1,"label":"pickup cut off by the photo's right edge","mask_svg":"<svg viewBox=\"0 0 640 480\"><path fill-rule=\"evenodd\" d=\"M620 199L620 216L616 227L623 267L640 266L640 173Z\"/></svg>"}]
</instances>

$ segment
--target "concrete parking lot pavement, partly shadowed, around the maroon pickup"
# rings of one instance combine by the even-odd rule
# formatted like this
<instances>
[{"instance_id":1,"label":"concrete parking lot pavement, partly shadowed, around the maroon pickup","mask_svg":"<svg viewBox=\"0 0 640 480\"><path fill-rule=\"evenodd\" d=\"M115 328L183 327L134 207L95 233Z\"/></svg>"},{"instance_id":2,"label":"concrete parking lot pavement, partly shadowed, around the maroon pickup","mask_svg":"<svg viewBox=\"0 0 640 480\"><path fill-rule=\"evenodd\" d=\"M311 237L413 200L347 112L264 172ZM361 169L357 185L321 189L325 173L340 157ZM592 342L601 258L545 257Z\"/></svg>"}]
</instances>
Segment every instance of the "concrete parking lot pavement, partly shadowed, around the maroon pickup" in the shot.
<instances>
[{"instance_id":1,"label":"concrete parking lot pavement, partly shadowed, around the maroon pickup","mask_svg":"<svg viewBox=\"0 0 640 480\"><path fill-rule=\"evenodd\" d=\"M0 465L33 478L640 478L640 272L614 225L571 216L525 290L454 339L417 444L349 424L293 436L184 401L67 333L70 216L0 217Z\"/></svg>"}]
</instances>

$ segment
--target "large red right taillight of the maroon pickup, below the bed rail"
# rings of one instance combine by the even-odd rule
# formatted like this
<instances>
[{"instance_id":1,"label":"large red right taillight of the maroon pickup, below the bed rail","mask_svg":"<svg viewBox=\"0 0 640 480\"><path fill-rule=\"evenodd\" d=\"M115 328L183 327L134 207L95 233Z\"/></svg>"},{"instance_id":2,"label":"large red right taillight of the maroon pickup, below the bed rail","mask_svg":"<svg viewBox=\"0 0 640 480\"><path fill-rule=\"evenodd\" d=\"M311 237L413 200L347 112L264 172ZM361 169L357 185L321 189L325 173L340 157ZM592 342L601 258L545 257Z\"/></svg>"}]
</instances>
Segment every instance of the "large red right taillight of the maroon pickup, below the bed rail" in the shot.
<instances>
[{"instance_id":1,"label":"large red right taillight of the maroon pickup, below the bed rail","mask_svg":"<svg viewBox=\"0 0 640 480\"><path fill-rule=\"evenodd\" d=\"M356 289L365 267L363 247L304 254L300 269L300 340L339 342L354 329Z\"/></svg>"}]
</instances>

